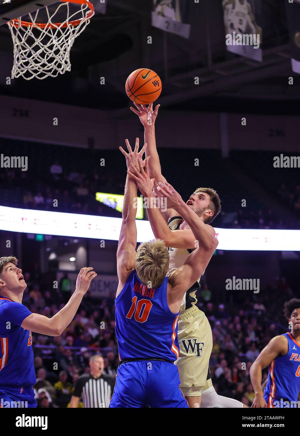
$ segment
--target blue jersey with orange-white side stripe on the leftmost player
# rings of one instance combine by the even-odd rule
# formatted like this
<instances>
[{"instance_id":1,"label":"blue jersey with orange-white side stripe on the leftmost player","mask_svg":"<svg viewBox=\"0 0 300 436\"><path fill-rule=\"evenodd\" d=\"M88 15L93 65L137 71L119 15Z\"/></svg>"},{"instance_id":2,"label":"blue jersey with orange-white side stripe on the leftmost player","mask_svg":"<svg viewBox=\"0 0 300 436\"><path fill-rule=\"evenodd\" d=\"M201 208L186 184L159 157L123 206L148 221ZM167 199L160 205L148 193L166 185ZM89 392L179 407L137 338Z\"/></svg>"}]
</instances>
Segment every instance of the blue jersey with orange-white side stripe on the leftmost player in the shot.
<instances>
[{"instance_id":1,"label":"blue jersey with orange-white side stripe on the leftmost player","mask_svg":"<svg viewBox=\"0 0 300 436\"><path fill-rule=\"evenodd\" d=\"M0 389L36 383L31 331L21 327L29 315L23 304L0 296Z\"/></svg>"}]
</instances>

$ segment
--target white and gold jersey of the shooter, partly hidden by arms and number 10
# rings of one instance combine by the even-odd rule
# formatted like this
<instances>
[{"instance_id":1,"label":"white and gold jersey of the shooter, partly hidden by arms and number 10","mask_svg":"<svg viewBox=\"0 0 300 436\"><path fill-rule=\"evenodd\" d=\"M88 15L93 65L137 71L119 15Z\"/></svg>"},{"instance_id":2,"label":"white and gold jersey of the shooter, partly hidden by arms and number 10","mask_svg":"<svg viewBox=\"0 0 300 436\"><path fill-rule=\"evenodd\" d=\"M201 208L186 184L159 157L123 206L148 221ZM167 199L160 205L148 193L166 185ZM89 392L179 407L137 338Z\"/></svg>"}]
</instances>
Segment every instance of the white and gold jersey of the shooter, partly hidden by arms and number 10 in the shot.
<instances>
[{"instance_id":1,"label":"white and gold jersey of the shooter, partly hidden by arms and number 10","mask_svg":"<svg viewBox=\"0 0 300 436\"><path fill-rule=\"evenodd\" d=\"M183 218L181 218L180 216L174 216L173 218L169 219L168 226L172 231L179 230L182 221ZM173 272L174 269L180 268L186 261L187 256L193 251L193 249L168 247L170 263L167 275L170 275L170 273ZM200 277L198 281L194 283L194 285L191 286L190 289L187 290L187 292L184 294L181 302L181 312L183 310L189 309L197 303L196 291L200 288L199 281Z\"/></svg>"}]
</instances>

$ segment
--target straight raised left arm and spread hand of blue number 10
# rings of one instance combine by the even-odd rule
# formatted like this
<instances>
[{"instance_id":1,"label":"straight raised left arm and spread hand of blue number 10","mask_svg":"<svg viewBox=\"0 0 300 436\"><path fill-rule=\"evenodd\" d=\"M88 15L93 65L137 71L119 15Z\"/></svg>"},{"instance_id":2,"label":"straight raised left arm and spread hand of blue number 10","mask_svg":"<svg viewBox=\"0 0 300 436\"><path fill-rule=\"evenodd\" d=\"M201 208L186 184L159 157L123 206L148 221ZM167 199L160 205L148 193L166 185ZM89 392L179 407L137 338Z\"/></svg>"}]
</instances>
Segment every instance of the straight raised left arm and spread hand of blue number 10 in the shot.
<instances>
[{"instance_id":1,"label":"straight raised left arm and spread hand of blue number 10","mask_svg":"<svg viewBox=\"0 0 300 436\"><path fill-rule=\"evenodd\" d=\"M139 138L136 138L136 146L132 151L128 139L126 139L126 146L129 153L126 153L122 147L119 147L121 152L126 157L127 168L130 164L138 167L138 158L143 157L143 153L147 148L147 144L144 144L143 148L139 150ZM147 160L149 157L147 158ZM145 163L144 163L145 164ZM119 286L117 294L122 290L126 279L130 275L130 272L135 268L136 258L136 205L137 205L137 187L134 179L127 174L125 192L124 192L124 204L122 213L122 226L119 236L119 245L117 250L117 274L119 278Z\"/></svg>"}]
</instances>

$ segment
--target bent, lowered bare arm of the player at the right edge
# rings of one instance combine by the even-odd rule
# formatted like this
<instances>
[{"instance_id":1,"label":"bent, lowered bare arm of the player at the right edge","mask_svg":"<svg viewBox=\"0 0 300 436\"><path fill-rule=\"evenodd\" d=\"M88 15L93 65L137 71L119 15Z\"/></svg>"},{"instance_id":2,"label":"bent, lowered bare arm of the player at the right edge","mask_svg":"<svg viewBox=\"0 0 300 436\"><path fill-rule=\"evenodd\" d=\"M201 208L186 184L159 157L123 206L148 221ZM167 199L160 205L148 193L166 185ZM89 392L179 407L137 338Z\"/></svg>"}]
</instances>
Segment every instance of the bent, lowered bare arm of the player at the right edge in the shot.
<instances>
[{"instance_id":1,"label":"bent, lowered bare arm of the player at the right edge","mask_svg":"<svg viewBox=\"0 0 300 436\"><path fill-rule=\"evenodd\" d=\"M283 335L275 336L252 363L250 368L250 379L255 392L255 398L251 407L267 407L266 401L263 398L262 371L273 361L273 359L280 354L286 354L287 351L288 342L286 337Z\"/></svg>"}]
</instances>

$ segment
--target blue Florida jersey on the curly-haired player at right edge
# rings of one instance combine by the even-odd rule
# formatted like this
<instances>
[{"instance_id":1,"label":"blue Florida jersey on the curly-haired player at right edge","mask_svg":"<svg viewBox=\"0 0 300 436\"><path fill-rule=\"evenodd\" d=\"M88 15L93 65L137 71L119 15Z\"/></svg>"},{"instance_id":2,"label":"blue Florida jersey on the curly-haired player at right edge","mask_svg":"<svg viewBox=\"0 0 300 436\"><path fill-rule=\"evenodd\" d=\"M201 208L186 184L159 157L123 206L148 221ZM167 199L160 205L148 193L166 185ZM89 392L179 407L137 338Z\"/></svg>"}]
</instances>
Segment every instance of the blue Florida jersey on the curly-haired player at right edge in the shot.
<instances>
[{"instance_id":1,"label":"blue Florida jersey on the curly-haired player at right edge","mask_svg":"<svg viewBox=\"0 0 300 436\"><path fill-rule=\"evenodd\" d=\"M300 344L290 332L283 336L287 338L289 351L284 356L277 356L269 364L268 382L264 391L268 407L284 407L284 401L297 402L300 392Z\"/></svg>"}]
</instances>

